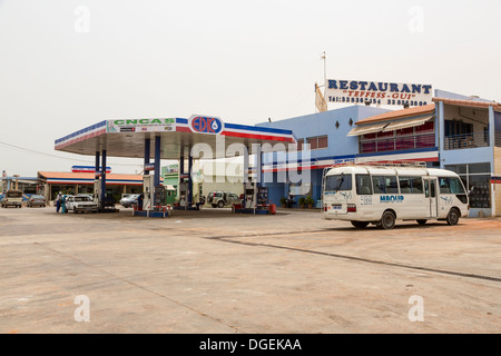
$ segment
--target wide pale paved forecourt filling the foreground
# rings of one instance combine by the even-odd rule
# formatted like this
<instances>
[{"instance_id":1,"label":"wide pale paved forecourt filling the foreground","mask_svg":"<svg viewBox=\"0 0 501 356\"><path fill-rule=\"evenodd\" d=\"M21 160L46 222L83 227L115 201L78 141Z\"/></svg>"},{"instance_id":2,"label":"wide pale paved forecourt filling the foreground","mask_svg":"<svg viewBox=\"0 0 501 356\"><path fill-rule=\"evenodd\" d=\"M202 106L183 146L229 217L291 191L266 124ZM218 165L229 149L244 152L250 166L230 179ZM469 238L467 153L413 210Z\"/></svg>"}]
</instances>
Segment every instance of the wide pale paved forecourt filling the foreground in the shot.
<instances>
[{"instance_id":1,"label":"wide pale paved forecourt filling the foreground","mask_svg":"<svg viewBox=\"0 0 501 356\"><path fill-rule=\"evenodd\" d=\"M500 228L0 209L0 333L500 333Z\"/></svg>"}]
</instances>

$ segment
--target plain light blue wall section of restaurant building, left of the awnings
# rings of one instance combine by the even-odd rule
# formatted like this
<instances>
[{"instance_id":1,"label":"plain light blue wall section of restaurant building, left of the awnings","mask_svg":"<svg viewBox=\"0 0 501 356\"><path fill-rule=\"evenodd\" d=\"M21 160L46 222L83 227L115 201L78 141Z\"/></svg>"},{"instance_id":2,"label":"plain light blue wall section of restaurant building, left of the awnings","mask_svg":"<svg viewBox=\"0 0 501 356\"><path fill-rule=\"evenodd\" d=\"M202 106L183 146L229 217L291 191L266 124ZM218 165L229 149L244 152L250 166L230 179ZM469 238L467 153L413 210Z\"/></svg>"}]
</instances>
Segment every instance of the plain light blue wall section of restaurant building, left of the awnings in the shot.
<instances>
[{"instance_id":1,"label":"plain light blue wall section of restaurant building, left of the awnings","mask_svg":"<svg viewBox=\"0 0 501 356\"><path fill-rule=\"evenodd\" d=\"M279 204L281 198L287 197L289 192L296 196L312 196L315 201L320 200L324 167L330 167L336 161L354 159L358 154L358 139L347 134L358 120L386 111L389 110L375 107L351 106L276 122L258 123L261 127L292 130L298 141L298 151L288 155L265 154L263 157L263 186L268 187L269 200ZM308 157L302 151L305 145L310 145ZM297 162L298 171L304 177L311 178L311 187L303 194L294 189L294 182L289 177L282 175L282 170L294 162Z\"/></svg>"}]
</instances>

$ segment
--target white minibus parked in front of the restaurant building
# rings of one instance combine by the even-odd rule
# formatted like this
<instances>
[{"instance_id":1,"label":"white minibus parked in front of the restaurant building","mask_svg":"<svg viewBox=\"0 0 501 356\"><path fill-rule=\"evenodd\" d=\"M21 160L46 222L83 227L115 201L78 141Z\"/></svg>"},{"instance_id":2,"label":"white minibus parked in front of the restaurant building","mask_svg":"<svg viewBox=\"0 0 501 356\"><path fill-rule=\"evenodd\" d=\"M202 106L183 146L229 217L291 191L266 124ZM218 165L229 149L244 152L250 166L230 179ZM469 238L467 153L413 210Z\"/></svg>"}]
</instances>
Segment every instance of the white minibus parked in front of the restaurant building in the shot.
<instances>
[{"instance_id":1,"label":"white minibus parked in front of the restaurant building","mask_svg":"<svg viewBox=\"0 0 501 356\"><path fill-rule=\"evenodd\" d=\"M424 167L352 165L325 169L322 215L347 220L356 228L369 224L392 229L395 220L430 219L456 225L468 216L469 200L460 177Z\"/></svg>"}]
</instances>

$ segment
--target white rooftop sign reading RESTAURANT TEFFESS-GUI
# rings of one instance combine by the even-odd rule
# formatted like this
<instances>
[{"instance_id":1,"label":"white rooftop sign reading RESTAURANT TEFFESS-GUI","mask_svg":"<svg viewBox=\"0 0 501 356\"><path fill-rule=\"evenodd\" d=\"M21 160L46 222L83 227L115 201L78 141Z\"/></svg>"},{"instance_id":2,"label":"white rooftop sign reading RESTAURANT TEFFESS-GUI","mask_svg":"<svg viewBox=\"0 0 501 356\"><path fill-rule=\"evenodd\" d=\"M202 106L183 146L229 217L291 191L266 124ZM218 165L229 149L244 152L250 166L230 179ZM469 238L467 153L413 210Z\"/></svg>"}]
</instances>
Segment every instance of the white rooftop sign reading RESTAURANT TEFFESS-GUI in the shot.
<instances>
[{"instance_id":1,"label":"white rooftop sign reading RESTAURANT TEFFESS-GUI","mask_svg":"<svg viewBox=\"0 0 501 356\"><path fill-rule=\"evenodd\" d=\"M373 103L418 107L432 102L432 86L328 79L325 100L333 103Z\"/></svg>"}]
</instances>

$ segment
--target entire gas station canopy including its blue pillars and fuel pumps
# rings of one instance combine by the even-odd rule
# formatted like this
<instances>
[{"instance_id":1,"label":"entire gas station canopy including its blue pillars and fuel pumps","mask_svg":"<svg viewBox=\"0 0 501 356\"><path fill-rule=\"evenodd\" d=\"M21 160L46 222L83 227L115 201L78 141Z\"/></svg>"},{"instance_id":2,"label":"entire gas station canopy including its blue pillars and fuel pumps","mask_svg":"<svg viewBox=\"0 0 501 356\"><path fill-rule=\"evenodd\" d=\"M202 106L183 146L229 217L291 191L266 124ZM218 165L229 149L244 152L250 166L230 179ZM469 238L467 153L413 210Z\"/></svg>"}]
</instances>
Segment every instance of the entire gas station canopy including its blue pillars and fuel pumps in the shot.
<instances>
[{"instance_id":1,"label":"entire gas station canopy including its blue pillars and fuel pumps","mask_svg":"<svg viewBox=\"0 0 501 356\"><path fill-rule=\"evenodd\" d=\"M257 205L257 189L248 175L249 155L256 154L261 177L262 154L286 151L287 144L296 144L289 130L225 123L219 118L194 115L188 119L115 119L105 120L56 140L56 150L96 157L95 200L99 211L114 212L115 204L108 201L106 189L107 157L144 158L143 194L139 209L135 215L165 217L165 187L160 182L160 160L179 159L179 208L199 208L194 201L193 159L244 156L244 211L254 212ZM279 145L277 145L279 144ZM198 147L197 147L198 145ZM253 145L257 145L256 148ZM153 149L151 149L153 148ZM254 149L256 151L254 152ZM293 149L295 149L293 147ZM200 155L202 154L202 155ZM195 156L195 157L194 157ZM154 157L154 162L150 158ZM185 174L185 158L188 172ZM154 170L154 175L149 171ZM161 211L161 207L164 210ZM267 211L267 210L266 210Z\"/></svg>"}]
</instances>

